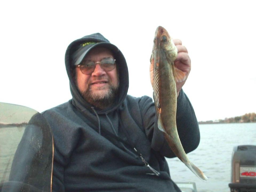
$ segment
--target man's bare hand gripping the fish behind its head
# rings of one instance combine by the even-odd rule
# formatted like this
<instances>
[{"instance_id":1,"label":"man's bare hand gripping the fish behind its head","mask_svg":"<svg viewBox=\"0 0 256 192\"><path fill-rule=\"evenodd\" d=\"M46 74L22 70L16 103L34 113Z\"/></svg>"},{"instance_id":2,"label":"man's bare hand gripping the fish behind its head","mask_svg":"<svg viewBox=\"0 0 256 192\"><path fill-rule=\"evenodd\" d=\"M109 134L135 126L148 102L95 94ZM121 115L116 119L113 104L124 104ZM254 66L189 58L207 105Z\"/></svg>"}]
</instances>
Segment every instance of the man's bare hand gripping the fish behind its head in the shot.
<instances>
[{"instance_id":1,"label":"man's bare hand gripping the fish behind its head","mask_svg":"<svg viewBox=\"0 0 256 192\"><path fill-rule=\"evenodd\" d=\"M180 70L182 70L186 78L182 82L176 82L176 90L177 90L177 97L179 96L179 91L181 90L182 86L185 84L187 77L189 76L190 70L191 70L191 61L188 55L188 51L185 46L182 45L181 40L174 39L174 44L176 45L178 49L178 55L176 60L174 61L174 66ZM150 82L153 87L153 78L154 78L154 63L150 64Z\"/></svg>"}]
</instances>

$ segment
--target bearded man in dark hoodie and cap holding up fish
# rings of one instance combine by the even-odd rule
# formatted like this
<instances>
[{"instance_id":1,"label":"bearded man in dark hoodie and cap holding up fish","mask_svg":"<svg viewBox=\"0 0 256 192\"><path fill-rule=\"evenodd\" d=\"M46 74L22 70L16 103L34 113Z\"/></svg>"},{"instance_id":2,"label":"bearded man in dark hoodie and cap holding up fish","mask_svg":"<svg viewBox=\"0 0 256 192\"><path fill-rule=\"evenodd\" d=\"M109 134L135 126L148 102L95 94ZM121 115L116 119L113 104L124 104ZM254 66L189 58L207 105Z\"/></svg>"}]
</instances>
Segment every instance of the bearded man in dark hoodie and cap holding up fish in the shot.
<instances>
[{"instance_id":1,"label":"bearded man in dark hoodie and cap holding up fish","mask_svg":"<svg viewBox=\"0 0 256 192\"><path fill-rule=\"evenodd\" d=\"M176 65L188 75L187 50L176 44ZM54 137L53 191L180 191L170 178L164 157L175 155L157 127L152 99L127 95L121 51L92 34L69 45L65 63L72 99L43 113ZM188 153L200 135L183 84L177 85L177 127Z\"/></svg>"}]
</instances>

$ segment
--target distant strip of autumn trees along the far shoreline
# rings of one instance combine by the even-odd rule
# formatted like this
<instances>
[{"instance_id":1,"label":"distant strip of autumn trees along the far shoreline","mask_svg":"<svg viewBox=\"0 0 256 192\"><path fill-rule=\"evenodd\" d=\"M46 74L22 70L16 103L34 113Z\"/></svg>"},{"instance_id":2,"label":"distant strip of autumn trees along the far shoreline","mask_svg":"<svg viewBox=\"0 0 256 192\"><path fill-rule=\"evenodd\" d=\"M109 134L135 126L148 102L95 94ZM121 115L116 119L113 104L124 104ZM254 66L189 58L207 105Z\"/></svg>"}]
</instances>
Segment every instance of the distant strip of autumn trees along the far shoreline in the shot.
<instances>
[{"instance_id":1,"label":"distant strip of autumn trees along the far shoreline","mask_svg":"<svg viewBox=\"0 0 256 192\"><path fill-rule=\"evenodd\" d=\"M219 119L215 121L199 121L199 124L211 124L211 123L250 123L256 122L256 114L255 113L246 113L242 116Z\"/></svg>"}]
</instances>

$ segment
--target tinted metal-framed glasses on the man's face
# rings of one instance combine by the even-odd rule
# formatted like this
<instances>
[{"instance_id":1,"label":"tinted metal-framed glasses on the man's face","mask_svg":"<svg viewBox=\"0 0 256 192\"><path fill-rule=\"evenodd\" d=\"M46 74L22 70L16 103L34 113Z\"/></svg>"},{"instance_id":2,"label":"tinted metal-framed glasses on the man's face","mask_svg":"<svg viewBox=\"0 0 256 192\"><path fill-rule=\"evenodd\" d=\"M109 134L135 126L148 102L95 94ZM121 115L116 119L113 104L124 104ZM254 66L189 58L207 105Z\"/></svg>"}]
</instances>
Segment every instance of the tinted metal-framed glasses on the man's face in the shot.
<instances>
[{"instance_id":1,"label":"tinted metal-framed glasses on the man's face","mask_svg":"<svg viewBox=\"0 0 256 192\"><path fill-rule=\"evenodd\" d=\"M80 70L83 74L90 75L93 73L96 64L99 63L101 68L105 71L112 71L115 69L115 59L109 57L109 58L103 58L101 61L82 61L79 65L76 67L80 67Z\"/></svg>"}]
</instances>

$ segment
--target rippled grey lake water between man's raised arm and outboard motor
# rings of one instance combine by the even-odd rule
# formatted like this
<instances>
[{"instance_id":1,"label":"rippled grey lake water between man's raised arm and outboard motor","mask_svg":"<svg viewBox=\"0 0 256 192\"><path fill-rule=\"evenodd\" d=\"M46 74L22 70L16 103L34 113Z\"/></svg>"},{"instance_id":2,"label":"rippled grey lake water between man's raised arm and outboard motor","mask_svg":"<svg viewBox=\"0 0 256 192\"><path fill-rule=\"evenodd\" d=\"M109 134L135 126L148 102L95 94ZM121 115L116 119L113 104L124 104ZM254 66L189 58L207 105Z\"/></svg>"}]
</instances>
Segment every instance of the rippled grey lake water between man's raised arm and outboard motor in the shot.
<instances>
[{"instance_id":1,"label":"rippled grey lake water between man's raised arm and outboard motor","mask_svg":"<svg viewBox=\"0 0 256 192\"><path fill-rule=\"evenodd\" d=\"M229 192L234 146L256 145L256 123L199 125L201 140L188 158L208 177L200 180L178 158L167 159L175 182L195 182L198 192Z\"/></svg>"}]
</instances>

